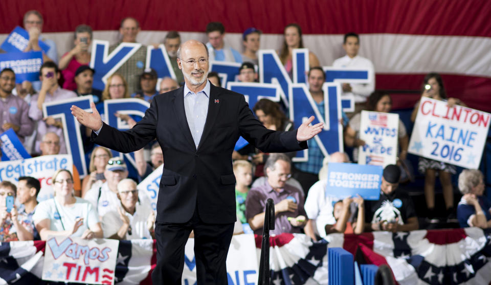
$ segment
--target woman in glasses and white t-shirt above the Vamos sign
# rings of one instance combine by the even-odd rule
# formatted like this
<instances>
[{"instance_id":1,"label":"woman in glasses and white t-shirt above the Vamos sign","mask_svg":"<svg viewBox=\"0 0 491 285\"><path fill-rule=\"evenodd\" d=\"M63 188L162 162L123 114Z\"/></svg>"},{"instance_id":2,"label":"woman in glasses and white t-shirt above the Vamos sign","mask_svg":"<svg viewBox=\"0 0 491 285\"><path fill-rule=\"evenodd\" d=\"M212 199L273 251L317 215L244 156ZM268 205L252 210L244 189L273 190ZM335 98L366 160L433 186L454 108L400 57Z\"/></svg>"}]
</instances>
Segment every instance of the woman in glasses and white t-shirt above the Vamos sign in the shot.
<instances>
[{"instance_id":1,"label":"woman in glasses and white t-shirt above the Vamos sign","mask_svg":"<svg viewBox=\"0 0 491 285\"><path fill-rule=\"evenodd\" d=\"M73 194L73 176L58 169L53 175L55 197L39 203L32 216L42 240L51 235L103 237L97 211L92 204Z\"/></svg>"}]
</instances>

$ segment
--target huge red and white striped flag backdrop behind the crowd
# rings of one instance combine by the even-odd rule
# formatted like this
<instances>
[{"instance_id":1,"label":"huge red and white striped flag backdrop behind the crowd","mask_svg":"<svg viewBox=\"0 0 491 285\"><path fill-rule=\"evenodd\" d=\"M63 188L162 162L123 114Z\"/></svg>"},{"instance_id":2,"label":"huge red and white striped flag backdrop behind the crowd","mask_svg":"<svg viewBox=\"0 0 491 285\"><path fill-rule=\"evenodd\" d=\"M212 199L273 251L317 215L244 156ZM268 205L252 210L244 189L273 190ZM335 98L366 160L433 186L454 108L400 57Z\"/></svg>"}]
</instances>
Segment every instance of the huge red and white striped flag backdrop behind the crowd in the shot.
<instances>
[{"instance_id":1,"label":"huge red and white striped flag backdrop behind the crowd","mask_svg":"<svg viewBox=\"0 0 491 285\"><path fill-rule=\"evenodd\" d=\"M183 40L206 41L209 21L226 27L226 42L242 51L241 33L256 27L263 31L261 48L279 49L283 28L298 23L306 48L322 65L344 55L343 34L361 35L360 54L372 60L376 89L419 90L423 76L435 71L443 76L447 93L470 107L491 112L487 102L491 87L491 5L487 1L382 0L335 1L123 1L0 3L0 41L26 11L44 15L44 35L56 41L59 54L70 50L79 24L95 30L94 38L118 41L120 20L133 16L144 44L162 42L166 31L182 32ZM412 107L419 95L394 96L393 108Z\"/></svg>"}]
</instances>

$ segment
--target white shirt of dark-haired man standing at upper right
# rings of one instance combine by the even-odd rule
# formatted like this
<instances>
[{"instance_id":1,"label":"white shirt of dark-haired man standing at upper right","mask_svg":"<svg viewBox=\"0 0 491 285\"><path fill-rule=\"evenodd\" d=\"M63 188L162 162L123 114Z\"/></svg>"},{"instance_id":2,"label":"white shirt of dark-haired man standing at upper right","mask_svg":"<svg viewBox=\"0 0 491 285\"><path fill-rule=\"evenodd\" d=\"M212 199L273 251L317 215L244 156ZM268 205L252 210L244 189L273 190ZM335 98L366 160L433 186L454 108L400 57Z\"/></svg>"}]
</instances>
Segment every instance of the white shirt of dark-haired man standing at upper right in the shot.
<instances>
[{"instance_id":1,"label":"white shirt of dark-haired man standing at upper right","mask_svg":"<svg viewBox=\"0 0 491 285\"><path fill-rule=\"evenodd\" d=\"M353 96L356 103L366 102L367 97L375 90L375 69L370 59L355 56L353 58L345 55L332 63L335 68L363 68L373 72L373 81L370 83L351 83L351 92L343 92L343 96Z\"/></svg>"}]
</instances>

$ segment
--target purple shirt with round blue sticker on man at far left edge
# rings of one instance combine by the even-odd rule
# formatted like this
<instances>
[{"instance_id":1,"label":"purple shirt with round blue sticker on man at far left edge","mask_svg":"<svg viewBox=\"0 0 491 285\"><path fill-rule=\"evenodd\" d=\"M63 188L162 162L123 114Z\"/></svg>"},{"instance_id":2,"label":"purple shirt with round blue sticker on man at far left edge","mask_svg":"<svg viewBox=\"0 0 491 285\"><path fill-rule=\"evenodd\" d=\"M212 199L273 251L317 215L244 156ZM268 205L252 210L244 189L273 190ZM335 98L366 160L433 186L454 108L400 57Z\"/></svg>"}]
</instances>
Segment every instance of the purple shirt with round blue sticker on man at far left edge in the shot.
<instances>
[{"instance_id":1,"label":"purple shirt with round blue sticker on man at far left edge","mask_svg":"<svg viewBox=\"0 0 491 285\"><path fill-rule=\"evenodd\" d=\"M21 142L24 137L30 136L34 130L34 122L28 117L29 105L23 99L10 94L7 98L0 98L0 133L6 131L2 128L5 123L12 123L20 127L17 136Z\"/></svg>"}]
</instances>

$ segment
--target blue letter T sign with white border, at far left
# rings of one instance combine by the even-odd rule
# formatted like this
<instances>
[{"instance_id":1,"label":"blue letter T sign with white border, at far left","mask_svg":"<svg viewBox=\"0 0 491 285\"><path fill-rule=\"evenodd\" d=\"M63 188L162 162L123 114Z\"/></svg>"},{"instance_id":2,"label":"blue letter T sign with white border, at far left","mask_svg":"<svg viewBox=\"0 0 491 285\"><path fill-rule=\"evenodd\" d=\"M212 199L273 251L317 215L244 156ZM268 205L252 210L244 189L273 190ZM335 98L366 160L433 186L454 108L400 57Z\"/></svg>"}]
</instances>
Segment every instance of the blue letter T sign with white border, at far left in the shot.
<instances>
[{"instance_id":1,"label":"blue letter T sign with white border, at far left","mask_svg":"<svg viewBox=\"0 0 491 285\"><path fill-rule=\"evenodd\" d=\"M83 152L82 138L80 136L80 124L70 111L72 105L76 105L85 111L91 112L90 104L92 96L82 96L65 100L58 100L42 104L42 116L60 118L63 124L63 137L65 139L66 151L72 155L73 164L77 167L80 177L87 175L85 155Z\"/></svg>"}]
</instances>

